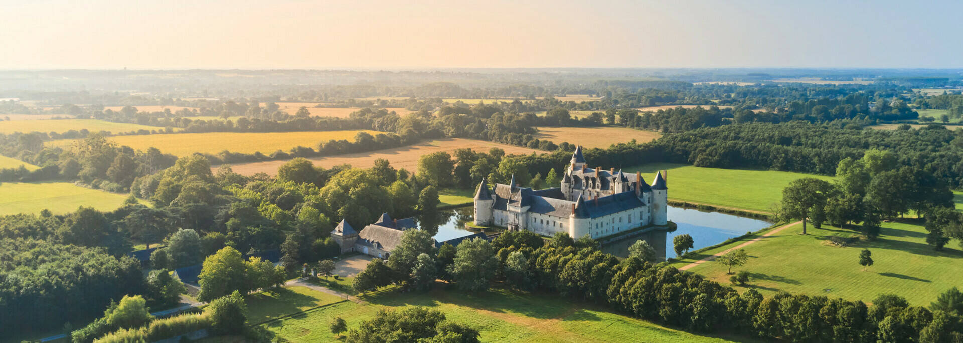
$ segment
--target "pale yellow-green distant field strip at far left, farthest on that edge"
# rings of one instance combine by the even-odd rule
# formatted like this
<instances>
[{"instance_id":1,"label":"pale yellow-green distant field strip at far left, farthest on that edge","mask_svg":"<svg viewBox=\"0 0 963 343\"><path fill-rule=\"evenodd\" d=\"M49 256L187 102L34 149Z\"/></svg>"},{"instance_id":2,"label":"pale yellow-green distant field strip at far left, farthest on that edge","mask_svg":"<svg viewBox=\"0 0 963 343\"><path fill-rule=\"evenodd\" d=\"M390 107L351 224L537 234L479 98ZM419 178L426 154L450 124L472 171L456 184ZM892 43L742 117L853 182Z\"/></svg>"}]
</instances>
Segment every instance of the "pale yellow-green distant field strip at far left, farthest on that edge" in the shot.
<instances>
[{"instance_id":1,"label":"pale yellow-green distant field strip at far left, farthest on that edge","mask_svg":"<svg viewBox=\"0 0 963 343\"><path fill-rule=\"evenodd\" d=\"M164 130L157 126L114 123L97 119L50 119L50 120L10 120L0 121L0 134L19 133L60 133L70 130L87 129L91 133L108 131L112 134L128 133L138 130Z\"/></svg>"}]
</instances>

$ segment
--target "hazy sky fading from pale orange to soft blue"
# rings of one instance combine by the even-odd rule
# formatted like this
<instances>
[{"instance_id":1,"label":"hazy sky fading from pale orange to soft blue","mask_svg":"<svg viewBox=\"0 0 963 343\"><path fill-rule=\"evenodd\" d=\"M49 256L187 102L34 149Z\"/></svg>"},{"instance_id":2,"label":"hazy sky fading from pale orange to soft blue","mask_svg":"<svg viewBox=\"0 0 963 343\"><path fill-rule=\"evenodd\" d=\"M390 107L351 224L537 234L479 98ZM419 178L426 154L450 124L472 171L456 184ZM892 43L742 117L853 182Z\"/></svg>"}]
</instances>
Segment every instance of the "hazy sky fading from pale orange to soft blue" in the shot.
<instances>
[{"instance_id":1,"label":"hazy sky fading from pale orange to soft blue","mask_svg":"<svg viewBox=\"0 0 963 343\"><path fill-rule=\"evenodd\" d=\"M963 67L943 1L0 0L0 69Z\"/></svg>"}]
</instances>

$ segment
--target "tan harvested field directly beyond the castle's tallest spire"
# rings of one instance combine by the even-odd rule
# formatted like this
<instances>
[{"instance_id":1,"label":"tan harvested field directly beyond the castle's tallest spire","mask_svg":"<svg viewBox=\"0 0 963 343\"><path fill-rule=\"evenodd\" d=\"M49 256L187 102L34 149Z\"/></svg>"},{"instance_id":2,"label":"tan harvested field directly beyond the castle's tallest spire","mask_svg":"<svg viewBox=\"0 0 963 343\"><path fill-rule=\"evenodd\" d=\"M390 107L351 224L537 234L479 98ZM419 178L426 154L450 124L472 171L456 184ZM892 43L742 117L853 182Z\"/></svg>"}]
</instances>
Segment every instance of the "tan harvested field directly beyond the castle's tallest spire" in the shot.
<instances>
[{"instance_id":1,"label":"tan harvested field directly beyond the castle's tallest spire","mask_svg":"<svg viewBox=\"0 0 963 343\"><path fill-rule=\"evenodd\" d=\"M651 141L661 136L659 133L645 130L622 128L617 126L601 126L590 128L572 127L540 127L538 139L548 139L556 144L569 142L586 148L608 148L615 143L628 143L636 139L639 143Z\"/></svg>"}]
</instances>

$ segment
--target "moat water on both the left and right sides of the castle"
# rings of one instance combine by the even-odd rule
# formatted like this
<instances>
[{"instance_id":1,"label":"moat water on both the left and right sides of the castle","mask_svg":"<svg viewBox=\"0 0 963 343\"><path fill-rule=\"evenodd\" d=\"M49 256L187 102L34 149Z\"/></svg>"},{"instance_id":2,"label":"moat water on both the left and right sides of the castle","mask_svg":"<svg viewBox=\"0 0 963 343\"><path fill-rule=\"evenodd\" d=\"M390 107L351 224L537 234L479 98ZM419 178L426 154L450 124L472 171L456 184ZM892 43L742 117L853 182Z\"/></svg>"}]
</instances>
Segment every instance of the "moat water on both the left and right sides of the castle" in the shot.
<instances>
[{"instance_id":1,"label":"moat water on both the left and right sides of the castle","mask_svg":"<svg viewBox=\"0 0 963 343\"><path fill-rule=\"evenodd\" d=\"M672 238L680 234L691 235L694 242L693 250L698 250L748 232L768 228L771 225L763 220L691 208L669 207L666 214L668 220L678 226L674 232L652 231L641 233L631 238L604 244L602 251L616 257L628 257L629 247L638 240L645 240L656 249L656 256L664 259L665 257L675 256L675 252L672 250ZM473 209L471 207L439 210L434 217L419 217L419 227L428 228L429 231L437 228L434 239L443 242L474 234L474 232L465 230L465 223L472 221L472 215Z\"/></svg>"}]
</instances>

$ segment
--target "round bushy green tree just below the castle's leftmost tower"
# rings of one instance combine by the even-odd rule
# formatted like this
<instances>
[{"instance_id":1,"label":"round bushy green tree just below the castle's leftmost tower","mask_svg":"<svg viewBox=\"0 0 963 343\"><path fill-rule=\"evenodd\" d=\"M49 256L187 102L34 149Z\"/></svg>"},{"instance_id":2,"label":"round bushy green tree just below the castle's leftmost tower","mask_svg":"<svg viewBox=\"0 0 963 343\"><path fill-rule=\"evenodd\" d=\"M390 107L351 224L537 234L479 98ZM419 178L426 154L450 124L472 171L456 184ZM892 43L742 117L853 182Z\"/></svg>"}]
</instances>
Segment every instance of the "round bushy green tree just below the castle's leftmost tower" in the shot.
<instances>
[{"instance_id":1,"label":"round bushy green tree just below the castle's leftmost tower","mask_svg":"<svg viewBox=\"0 0 963 343\"><path fill-rule=\"evenodd\" d=\"M458 288L473 292L487 289L498 267L491 243L483 238L474 238L462 241L456 248L452 276Z\"/></svg>"}]
</instances>

